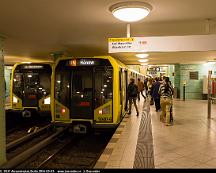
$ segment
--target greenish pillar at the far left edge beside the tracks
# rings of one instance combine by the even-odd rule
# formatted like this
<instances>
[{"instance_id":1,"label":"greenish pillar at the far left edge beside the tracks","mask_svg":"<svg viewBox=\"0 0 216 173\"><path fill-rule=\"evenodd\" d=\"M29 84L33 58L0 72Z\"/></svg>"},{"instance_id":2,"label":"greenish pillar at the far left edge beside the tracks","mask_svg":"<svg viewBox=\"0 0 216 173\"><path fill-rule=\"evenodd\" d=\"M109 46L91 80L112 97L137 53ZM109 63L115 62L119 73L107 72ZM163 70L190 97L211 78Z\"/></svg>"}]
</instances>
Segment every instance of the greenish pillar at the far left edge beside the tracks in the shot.
<instances>
[{"instance_id":1,"label":"greenish pillar at the far left edge beside the tracks","mask_svg":"<svg viewBox=\"0 0 216 173\"><path fill-rule=\"evenodd\" d=\"M5 82L3 38L0 36L0 166L6 162Z\"/></svg>"}]
</instances>

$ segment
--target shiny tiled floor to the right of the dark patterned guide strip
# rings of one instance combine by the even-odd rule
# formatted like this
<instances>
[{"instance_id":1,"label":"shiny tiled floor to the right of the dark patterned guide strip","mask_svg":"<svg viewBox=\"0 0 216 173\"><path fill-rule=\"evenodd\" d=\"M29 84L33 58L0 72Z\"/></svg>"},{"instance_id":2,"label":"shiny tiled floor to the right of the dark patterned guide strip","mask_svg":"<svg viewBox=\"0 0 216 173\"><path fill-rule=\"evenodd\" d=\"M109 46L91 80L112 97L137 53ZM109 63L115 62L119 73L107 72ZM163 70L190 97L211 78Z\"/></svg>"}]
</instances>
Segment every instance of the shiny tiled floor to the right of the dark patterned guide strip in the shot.
<instances>
[{"instance_id":1,"label":"shiny tiled floor to the right of the dark patterned guide strip","mask_svg":"<svg viewBox=\"0 0 216 173\"><path fill-rule=\"evenodd\" d=\"M174 101L174 125L159 121L151 106L155 168L216 168L216 105L207 119L207 101Z\"/></svg>"}]
</instances>

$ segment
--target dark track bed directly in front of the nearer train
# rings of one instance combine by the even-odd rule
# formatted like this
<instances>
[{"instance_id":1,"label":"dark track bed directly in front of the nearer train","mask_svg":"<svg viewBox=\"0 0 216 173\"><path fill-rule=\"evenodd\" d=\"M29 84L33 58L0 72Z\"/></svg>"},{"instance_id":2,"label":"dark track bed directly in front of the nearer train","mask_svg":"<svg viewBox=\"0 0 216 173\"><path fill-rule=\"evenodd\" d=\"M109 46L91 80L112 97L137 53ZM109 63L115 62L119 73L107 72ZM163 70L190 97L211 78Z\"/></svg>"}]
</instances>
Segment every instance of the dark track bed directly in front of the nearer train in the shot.
<instances>
[{"instance_id":1,"label":"dark track bed directly in front of the nearer train","mask_svg":"<svg viewBox=\"0 0 216 173\"><path fill-rule=\"evenodd\" d=\"M70 134L63 142L55 142L41 150L34 158L19 165L18 169L82 169L93 168L112 134Z\"/></svg>"}]
</instances>

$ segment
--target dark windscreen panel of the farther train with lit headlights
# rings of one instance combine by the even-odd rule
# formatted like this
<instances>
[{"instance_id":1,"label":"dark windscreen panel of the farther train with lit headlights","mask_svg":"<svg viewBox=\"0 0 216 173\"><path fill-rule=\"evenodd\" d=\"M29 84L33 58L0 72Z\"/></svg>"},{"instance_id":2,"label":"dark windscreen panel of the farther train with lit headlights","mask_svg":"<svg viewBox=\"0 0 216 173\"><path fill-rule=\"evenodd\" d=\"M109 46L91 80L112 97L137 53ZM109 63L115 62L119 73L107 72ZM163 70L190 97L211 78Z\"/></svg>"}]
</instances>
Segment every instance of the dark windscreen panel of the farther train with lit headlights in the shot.
<instances>
[{"instance_id":1,"label":"dark windscreen panel of the farther train with lit headlights","mask_svg":"<svg viewBox=\"0 0 216 173\"><path fill-rule=\"evenodd\" d=\"M23 107L38 107L38 101L50 95L52 68L48 64L18 65L14 71L13 93Z\"/></svg>"}]
</instances>

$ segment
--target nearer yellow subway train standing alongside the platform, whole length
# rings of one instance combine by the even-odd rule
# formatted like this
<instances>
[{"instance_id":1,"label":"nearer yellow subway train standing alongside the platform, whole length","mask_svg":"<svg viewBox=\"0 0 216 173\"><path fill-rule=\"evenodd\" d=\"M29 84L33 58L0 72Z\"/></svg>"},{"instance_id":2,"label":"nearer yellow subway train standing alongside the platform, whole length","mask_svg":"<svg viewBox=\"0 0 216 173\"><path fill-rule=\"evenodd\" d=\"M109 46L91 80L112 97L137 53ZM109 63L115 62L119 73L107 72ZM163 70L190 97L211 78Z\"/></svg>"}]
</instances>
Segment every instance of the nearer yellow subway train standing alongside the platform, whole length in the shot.
<instances>
[{"instance_id":1,"label":"nearer yellow subway train standing alongside the platform, whole length","mask_svg":"<svg viewBox=\"0 0 216 173\"><path fill-rule=\"evenodd\" d=\"M127 110L127 85L144 75L111 56L60 58L52 75L52 122L73 132L114 129Z\"/></svg>"}]
</instances>

